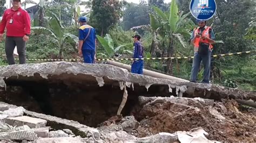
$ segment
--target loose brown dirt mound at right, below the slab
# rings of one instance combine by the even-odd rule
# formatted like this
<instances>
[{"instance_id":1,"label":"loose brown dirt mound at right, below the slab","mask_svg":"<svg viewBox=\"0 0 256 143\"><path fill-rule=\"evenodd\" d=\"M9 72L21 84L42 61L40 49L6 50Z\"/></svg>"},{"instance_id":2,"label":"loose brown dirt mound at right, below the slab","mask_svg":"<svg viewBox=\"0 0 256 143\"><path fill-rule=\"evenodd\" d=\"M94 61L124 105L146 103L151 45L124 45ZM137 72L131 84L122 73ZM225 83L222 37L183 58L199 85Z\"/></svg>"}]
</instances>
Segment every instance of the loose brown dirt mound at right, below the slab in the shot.
<instances>
[{"instance_id":1,"label":"loose brown dirt mound at right, below the slab","mask_svg":"<svg viewBox=\"0 0 256 143\"><path fill-rule=\"evenodd\" d=\"M159 132L190 131L203 127L208 139L218 141L256 141L256 116L253 112L239 111L233 100L214 102L213 106L196 102L187 105L165 101L145 104L132 115L140 121L138 137Z\"/></svg>"}]
</instances>

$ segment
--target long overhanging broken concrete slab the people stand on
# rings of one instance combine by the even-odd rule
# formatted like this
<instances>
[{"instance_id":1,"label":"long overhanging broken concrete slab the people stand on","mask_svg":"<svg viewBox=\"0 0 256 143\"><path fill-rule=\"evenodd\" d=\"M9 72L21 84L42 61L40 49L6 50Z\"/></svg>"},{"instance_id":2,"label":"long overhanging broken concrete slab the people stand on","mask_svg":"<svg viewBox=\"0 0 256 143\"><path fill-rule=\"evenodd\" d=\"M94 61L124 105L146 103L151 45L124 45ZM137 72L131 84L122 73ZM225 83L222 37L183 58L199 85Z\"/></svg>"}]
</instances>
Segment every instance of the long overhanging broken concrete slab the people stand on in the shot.
<instances>
[{"instance_id":1,"label":"long overhanging broken concrete slab the people stand on","mask_svg":"<svg viewBox=\"0 0 256 143\"><path fill-rule=\"evenodd\" d=\"M231 89L212 84L171 81L163 78L136 75L129 73L126 69L105 64L89 65L71 62L45 62L10 65L0 67L0 79L2 79L0 81L0 87L5 87L5 84L8 85L11 81L54 82L56 79L71 85L73 83L80 83L81 80L93 85L119 86L119 82L129 82L133 84L134 89L145 87L148 89L151 86L158 88L164 87L168 91L176 89L176 93L173 94L186 97L202 97L216 100L221 98L239 98L256 101L255 92ZM140 87L139 85L144 85L145 87Z\"/></svg>"}]
</instances>

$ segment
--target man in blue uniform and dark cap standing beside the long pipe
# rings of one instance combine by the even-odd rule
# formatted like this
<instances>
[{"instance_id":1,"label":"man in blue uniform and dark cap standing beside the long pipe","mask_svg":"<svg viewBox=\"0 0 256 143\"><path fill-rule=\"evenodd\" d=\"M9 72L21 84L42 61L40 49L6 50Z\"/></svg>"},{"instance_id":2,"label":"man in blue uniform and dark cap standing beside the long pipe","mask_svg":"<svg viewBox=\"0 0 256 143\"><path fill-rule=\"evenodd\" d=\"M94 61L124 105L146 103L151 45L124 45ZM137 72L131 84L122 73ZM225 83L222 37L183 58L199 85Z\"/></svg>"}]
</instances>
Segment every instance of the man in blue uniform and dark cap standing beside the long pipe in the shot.
<instances>
[{"instance_id":1,"label":"man in blue uniform and dark cap standing beside the long pipe","mask_svg":"<svg viewBox=\"0 0 256 143\"><path fill-rule=\"evenodd\" d=\"M133 58L143 58L143 46L140 43L140 35L136 34L133 37ZM134 74L143 74L143 60L134 60L132 63L131 72Z\"/></svg>"}]
</instances>

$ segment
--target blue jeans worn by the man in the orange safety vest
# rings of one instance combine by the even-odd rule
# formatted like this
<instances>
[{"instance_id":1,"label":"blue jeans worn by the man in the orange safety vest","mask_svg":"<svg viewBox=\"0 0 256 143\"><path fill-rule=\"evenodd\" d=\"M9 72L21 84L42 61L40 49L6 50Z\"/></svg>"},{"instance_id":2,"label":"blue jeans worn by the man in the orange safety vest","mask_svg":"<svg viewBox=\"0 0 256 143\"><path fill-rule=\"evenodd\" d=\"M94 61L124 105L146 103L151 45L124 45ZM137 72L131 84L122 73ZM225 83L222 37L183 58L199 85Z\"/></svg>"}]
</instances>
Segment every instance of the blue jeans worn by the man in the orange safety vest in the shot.
<instances>
[{"instance_id":1,"label":"blue jeans worn by the man in the orange safety vest","mask_svg":"<svg viewBox=\"0 0 256 143\"><path fill-rule=\"evenodd\" d=\"M194 52L194 59L193 59L193 65L191 69L191 76L190 76L191 82L196 82L199 67L202 61L204 66L204 75L203 75L202 83L210 83L211 54L212 54L212 51L210 49L208 50L208 53L206 55L200 55L198 54L198 52Z\"/></svg>"}]
</instances>

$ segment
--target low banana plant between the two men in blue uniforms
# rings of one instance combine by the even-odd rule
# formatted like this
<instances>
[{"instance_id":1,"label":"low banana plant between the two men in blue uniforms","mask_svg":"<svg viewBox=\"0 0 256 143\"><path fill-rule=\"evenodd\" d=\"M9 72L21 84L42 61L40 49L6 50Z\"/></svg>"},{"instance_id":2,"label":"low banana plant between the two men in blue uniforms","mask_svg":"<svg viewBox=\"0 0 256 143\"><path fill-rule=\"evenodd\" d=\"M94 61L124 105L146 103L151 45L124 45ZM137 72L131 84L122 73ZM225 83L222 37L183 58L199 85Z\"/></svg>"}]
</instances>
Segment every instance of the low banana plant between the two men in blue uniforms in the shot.
<instances>
[{"instance_id":1,"label":"low banana plant between the two men in blue uniforms","mask_svg":"<svg viewBox=\"0 0 256 143\"><path fill-rule=\"evenodd\" d=\"M99 35L96 35L96 37L97 37L99 43L105 49L106 55L105 54L102 54L102 55L105 55L106 58L113 58L114 54L117 53L117 52L120 52L120 49L122 47L125 47L125 46L131 46L132 47L132 44L124 44L124 45L114 47L114 42L113 42L110 34L106 34L104 38L100 37ZM132 52L130 50L126 49L126 50L123 50L123 51L132 54Z\"/></svg>"}]
</instances>

